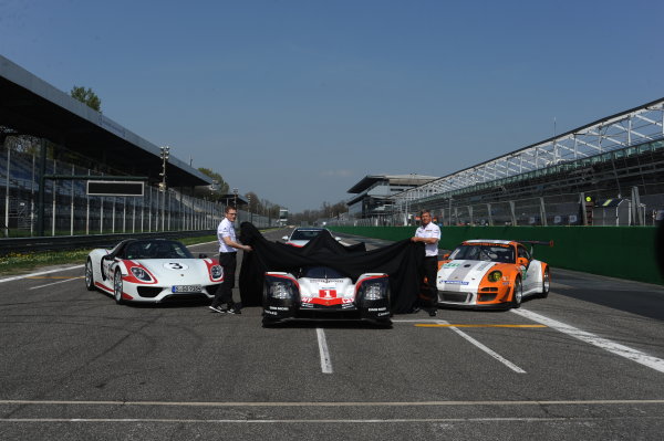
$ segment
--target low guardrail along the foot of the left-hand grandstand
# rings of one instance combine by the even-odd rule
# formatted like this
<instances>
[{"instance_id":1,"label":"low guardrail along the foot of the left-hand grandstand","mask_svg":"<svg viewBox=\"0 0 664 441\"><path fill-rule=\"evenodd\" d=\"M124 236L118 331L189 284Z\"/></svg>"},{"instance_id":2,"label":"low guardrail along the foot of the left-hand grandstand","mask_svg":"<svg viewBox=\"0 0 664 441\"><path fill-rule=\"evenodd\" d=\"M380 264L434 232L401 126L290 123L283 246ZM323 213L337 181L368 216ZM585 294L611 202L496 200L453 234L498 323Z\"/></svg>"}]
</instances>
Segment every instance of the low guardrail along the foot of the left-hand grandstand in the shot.
<instances>
[{"instance_id":1,"label":"low guardrail along the foot of the left-hand grandstand","mask_svg":"<svg viewBox=\"0 0 664 441\"><path fill-rule=\"evenodd\" d=\"M37 251L64 251L86 248L113 246L124 239L144 238L195 238L198 235L216 234L216 230L195 231L159 231L155 233L136 234L91 234L91 235L55 235L44 238L9 238L0 239L0 255L9 253L27 253Z\"/></svg>"}]
</instances>

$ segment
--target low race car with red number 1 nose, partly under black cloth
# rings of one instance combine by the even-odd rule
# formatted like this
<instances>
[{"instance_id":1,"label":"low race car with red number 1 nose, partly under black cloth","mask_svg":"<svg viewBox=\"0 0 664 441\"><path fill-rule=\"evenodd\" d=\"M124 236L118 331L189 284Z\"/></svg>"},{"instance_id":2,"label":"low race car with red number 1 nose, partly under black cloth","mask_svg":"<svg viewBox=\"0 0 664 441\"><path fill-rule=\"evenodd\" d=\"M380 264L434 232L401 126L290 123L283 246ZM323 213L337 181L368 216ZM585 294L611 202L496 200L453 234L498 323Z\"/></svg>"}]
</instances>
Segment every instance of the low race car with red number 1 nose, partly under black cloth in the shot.
<instances>
[{"instance_id":1,"label":"low race car with red number 1 nose, partly under black cloth","mask_svg":"<svg viewBox=\"0 0 664 441\"><path fill-rule=\"evenodd\" d=\"M267 272L263 326L290 318L360 318L390 324L390 280L362 274L356 282L328 266L308 266L297 275Z\"/></svg>"}]
</instances>

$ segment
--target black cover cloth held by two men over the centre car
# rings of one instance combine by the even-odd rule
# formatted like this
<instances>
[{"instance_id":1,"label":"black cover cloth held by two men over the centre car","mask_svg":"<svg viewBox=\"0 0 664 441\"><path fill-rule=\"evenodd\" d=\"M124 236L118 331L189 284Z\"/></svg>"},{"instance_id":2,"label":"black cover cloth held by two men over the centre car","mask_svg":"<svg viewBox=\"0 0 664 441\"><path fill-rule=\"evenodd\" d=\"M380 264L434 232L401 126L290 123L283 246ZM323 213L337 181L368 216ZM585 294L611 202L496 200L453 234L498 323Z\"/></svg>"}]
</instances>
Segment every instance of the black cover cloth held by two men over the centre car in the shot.
<instances>
[{"instance_id":1,"label":"black cover cloth held by two men over the centre car","mask_svg":"<svg viewBox=\"0 0 664 441\"><path fill-rule=\"evenodd\" d=\"M329 266L356 281L363 273L386 273L390 276L392 312L412 311L419 293L424 244L403 240L366 251L364 243L345 246L326 231L302 248L267 240L252 223L240 224L240 242L251 245L245 252L240 267L240 297L243 306L262 304L266 271L295 274L302 266Z\"/></svg>"}]
</instances>

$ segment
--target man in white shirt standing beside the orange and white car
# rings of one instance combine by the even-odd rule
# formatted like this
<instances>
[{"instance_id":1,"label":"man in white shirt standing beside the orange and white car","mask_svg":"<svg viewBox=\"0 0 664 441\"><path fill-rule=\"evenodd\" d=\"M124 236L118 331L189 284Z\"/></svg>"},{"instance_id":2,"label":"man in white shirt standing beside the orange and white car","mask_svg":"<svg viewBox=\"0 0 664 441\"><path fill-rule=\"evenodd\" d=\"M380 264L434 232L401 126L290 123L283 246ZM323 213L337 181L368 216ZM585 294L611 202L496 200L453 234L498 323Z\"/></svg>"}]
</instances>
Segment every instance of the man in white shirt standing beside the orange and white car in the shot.
<instances>
[{"instance_id":1,"label":"man in white shirt standing beside the orange and white car","mask_svg":"<svg viewBox=\"0 0 664 441\"><path fill-rule=\"evenodd\" d=\"M424 275L428 286L427 298L418 302L429 316L435 317L438 312L438 288L436 287L436 276L438 274L438 241L440 240L440 229L432 222L432 213L428 210L423 210L419 214L422 225L415 231L415 235L411 238L413 242L424 242ZM414 312L419 311L415 306Z\"/></svg>"}]
</instances>

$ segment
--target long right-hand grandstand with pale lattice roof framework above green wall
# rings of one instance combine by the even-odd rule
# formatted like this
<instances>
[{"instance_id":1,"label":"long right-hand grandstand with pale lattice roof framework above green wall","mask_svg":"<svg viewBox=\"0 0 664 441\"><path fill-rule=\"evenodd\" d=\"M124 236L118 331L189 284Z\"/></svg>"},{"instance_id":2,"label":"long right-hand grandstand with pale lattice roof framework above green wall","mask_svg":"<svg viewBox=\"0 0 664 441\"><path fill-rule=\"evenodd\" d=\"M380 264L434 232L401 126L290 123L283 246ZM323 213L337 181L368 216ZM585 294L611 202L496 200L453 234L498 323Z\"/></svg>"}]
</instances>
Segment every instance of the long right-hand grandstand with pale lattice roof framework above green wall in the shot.
<instances>
[{"instance_id":1,"label":"long right-hand grandstand with pale lattice roof framework above green wall","mask_svg":"<svg viewBox=\"0 0 664 441\"><path fill-rule=\"evenodd\" d=\"M654 224L664 213L664 98L388 199L395 225L424 208L445 225Z\"/></svg>"}]
</instances>

